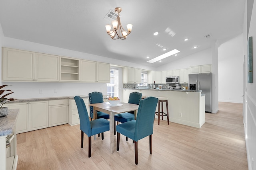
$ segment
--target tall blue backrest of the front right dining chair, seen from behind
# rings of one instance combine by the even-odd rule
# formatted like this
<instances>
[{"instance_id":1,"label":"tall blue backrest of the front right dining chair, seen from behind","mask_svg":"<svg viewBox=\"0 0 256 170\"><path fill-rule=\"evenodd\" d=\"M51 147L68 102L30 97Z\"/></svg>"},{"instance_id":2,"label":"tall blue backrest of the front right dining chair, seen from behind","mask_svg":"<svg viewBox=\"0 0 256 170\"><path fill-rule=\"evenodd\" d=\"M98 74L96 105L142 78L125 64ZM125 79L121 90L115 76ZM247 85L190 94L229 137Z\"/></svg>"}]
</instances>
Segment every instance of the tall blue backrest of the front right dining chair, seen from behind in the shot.
<instances>
[{"instance_id":1,"label":"tall blue backrest of the front right dining chair, seen from behind","mask_svg":"<svg viewBox=\"0 0 256 170\"><path fill-rule=\"evenodd\" d=\"M155 97L147 97L140 100L135 124L134 141L138 141L148 135L153 134L157 103L158 98Z\"/></svg>"}]
</instances>

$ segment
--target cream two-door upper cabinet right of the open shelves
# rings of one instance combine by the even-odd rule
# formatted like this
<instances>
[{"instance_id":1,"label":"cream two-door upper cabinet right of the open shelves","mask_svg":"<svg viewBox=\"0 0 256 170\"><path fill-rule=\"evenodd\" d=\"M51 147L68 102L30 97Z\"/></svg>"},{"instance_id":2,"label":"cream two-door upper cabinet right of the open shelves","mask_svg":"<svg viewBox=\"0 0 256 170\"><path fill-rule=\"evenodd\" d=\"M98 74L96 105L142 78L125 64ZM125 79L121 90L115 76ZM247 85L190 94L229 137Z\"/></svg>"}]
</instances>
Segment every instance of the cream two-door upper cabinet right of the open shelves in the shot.
<instances>
[{"instance_id":1,"label":"cream two-door upper cabinet right of the open shelves","mask_svg":"<svg viewBox=\"0 0 256 170\"><path fill-rule=\"evenodd\" d=\"M86 60L80 62L81 82L110 82L110 64Z\"/></svg>"}]
</instances>

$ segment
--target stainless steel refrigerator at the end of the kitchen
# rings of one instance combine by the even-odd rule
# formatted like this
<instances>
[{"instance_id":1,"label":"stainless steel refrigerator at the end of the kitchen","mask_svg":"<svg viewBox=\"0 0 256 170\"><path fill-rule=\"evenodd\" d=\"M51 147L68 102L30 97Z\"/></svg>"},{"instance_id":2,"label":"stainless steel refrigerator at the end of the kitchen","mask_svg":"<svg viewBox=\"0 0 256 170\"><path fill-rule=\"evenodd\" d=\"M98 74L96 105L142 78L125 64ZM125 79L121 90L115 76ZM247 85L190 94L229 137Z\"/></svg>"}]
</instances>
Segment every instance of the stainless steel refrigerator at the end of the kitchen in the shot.
<instances>
[{"instance_id":1,"label":"stainless steel refrigerator at the end of the kitchen","mask_svg":"<svg viewBox=\"0 0 256 170\"><path fill-rule=\"evenodd\" d=\"M212 113L212 73L188 74L189 89L202 90L205 94L205 111Z\"/></svg>"}]
</instances>

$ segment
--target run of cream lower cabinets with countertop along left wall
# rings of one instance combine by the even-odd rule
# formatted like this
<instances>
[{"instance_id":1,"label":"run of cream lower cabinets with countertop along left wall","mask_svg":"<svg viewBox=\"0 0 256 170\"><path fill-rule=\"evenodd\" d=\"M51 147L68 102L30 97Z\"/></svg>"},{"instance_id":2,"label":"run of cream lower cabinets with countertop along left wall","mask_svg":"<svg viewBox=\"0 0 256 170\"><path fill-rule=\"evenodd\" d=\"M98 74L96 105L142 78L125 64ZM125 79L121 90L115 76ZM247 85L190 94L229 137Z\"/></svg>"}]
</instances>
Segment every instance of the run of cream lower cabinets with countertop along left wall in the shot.
<instances>
[{"instance_id":1,"label":"run of cream lower cabinets with countertop along left wall","mask_svg":"<svg viewBox=\"0 0 256 170\"><path fill-rule=\"evenodd\" d=\"M5 106L8 109L19 109L17 134L69 123L68 99L17 102L5 104Z\"/></svg>"}]
</instances>

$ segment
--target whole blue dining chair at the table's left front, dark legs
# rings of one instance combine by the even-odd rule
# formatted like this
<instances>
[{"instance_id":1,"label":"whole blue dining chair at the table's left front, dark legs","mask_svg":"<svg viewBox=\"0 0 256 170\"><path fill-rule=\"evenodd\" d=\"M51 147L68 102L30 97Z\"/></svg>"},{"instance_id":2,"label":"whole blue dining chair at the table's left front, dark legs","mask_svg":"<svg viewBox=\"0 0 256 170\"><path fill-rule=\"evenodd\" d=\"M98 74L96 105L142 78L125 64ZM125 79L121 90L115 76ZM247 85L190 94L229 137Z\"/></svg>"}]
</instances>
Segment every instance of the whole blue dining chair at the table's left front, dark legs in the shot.
<instances>
[{"instance_id":1,"label":"whole blue dining chair at the table's left front, dark legs","mask_svg":"<svg viewBox=\"0 0 256 170\"><path fill-rule=\"evenodd\" d=\"M103 118L90 121L84 100L80 98L80 96L75 96L74 99L76 101L80 119L81 148L83 148L85 133L88 136L88 157L90 158L92 152L92 136L101 133L101 138L103 140L103 133L109 131L109 121Z\"/></svg>"}]
</instances>

